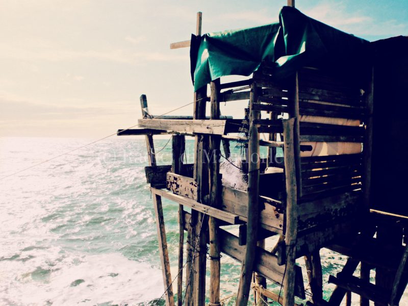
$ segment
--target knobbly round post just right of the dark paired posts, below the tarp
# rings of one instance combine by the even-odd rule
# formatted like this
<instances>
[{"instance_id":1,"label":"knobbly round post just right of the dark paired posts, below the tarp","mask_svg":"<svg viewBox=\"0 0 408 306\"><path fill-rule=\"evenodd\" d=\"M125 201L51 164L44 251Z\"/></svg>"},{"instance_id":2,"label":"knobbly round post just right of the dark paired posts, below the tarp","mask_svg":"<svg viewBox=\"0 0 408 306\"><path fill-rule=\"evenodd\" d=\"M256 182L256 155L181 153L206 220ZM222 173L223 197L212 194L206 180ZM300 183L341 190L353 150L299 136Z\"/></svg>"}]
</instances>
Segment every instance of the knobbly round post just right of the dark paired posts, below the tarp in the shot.
<instances>
[{"instance_id":1,"label":"knobbly round post just right of the dark paired posts, below the tarp","mask_svg":"<svg viewBox=\"0 0 408 306\"><path fill-rule=\"evenodd\" d=\"M220 80L217 79L211 82L211 119L219 119L220 105L218 96L220 93ZM209 163L209 189L211 207L219 208L221 206L221 182L219 177L220 170L220 140L219 135L210 136L210 156ZM220 305L220 245L218 220L214 217L209 217L209 235L210 235L210 304Z\"/></svg>"}]
</instances>

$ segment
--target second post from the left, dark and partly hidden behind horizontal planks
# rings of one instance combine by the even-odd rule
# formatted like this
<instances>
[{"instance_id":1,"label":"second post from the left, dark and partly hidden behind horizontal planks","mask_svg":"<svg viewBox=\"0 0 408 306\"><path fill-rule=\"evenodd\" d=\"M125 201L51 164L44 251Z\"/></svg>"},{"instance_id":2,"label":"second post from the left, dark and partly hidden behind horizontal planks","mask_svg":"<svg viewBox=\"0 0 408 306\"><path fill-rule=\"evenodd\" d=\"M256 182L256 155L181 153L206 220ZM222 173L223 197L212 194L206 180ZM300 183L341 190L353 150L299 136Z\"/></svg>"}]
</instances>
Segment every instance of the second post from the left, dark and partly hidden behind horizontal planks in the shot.
<instances>
[{"instance_id":1,"label":"second post from the left, dark and partly hidden behind horizontal planks","mask_svg":"<svg viewBox=\"0 0 408 306\"><path fill-rule=\"evenodd\" d=\"M173 135L172 137L172 163L171 171L183 173L183 156L186 146L185 136ZM177 276L177 305L183 305L183 246L184 246L184 209L179 205L179 275Z\"/></svg>"}]
</instances>

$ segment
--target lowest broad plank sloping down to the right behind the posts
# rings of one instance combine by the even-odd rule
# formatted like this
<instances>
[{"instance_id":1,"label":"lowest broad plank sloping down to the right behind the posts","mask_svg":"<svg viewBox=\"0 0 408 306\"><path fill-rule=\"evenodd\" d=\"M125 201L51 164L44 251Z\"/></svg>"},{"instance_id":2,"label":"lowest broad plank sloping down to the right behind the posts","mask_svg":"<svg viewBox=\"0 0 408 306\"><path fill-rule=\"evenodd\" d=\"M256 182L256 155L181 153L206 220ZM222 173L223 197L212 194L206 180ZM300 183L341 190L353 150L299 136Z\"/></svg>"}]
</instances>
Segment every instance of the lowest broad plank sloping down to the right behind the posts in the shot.
<instances>
[{"instance_id":1,"label":"lowest broad plank sloping down to the right behind the posts","mask_svg":"<svg viewBox=\"0 0 408 306\"><path fill-rule=\"evenodd\" d=\"M245 256L245 246L240 246L238 237L220 228L221 251L231 258L242 262ZM262 274L270 281L282 285L282 279L285 274L285 266L277 264L276 255L256 246L254 271ZM299 266L295 268L294 292L295 295L304 298L304 286L302 278L302 269ZM252 273L251 273L252 275Z\"/></svg>"}]
</instances>

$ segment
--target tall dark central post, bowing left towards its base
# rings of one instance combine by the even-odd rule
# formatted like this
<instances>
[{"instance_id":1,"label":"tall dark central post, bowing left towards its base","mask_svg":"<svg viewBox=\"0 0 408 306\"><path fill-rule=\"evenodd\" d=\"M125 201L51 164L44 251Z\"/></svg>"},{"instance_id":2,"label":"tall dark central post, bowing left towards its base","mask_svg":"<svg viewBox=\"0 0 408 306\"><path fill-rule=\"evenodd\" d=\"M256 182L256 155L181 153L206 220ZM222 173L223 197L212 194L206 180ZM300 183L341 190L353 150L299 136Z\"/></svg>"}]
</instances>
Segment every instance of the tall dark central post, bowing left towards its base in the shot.
<instances>
[{"instance_id":1,"label":"tall dark central post, bowing left towards its base","mask_svg":"<svg viewBox=\"0 0 408 306\"><path fill-rule=\"evenodd\" d=\"M254 120L260 118L260 111L252 109L257 101L258 87L252 83L249 97L249 140L248 140L248 219L246 231L245 257L242 262L241 276L237 295L237 305L246 306L249 298L252 271L259 223L259 132Z\"/></svg>"}]
</instances>

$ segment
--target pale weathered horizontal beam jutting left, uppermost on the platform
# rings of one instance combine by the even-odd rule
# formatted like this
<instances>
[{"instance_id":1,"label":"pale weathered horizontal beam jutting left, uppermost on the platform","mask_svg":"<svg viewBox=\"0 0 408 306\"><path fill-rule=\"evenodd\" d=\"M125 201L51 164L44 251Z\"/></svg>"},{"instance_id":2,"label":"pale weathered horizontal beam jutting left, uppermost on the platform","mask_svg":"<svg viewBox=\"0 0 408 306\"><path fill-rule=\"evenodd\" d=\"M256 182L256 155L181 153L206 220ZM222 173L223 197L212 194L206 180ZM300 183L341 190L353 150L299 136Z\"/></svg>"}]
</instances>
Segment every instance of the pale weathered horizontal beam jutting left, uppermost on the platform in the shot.
<instances>
[{"instance_id":1,"label":"pale weathered horizontal beam jutting left, uppermost on the platform","mask_svg":"<svg viewBox=\"0 0 408 306\"><path fill-rule=\"evenodd\" d=\"M175 131L181 133L200 133L223 135L226 120L167 120L167 119L139 119L139 126L152 130Z\"/></svg>"}]
</instances>

